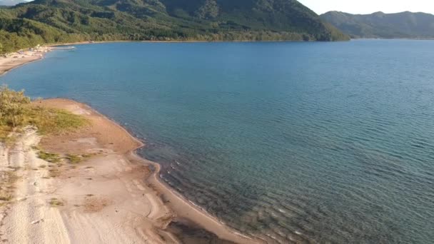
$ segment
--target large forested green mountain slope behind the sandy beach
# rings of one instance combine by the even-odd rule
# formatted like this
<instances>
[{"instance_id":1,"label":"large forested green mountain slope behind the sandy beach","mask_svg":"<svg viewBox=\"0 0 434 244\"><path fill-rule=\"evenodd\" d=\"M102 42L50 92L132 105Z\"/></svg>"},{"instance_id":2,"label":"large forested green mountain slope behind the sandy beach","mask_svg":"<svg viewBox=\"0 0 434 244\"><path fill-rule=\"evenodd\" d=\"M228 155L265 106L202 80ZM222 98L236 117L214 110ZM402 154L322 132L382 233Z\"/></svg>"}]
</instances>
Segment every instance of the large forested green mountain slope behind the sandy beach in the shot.
<instances>
[{"instance_id":1,"label":"large forested green mountain slope behind the sandy beach","mask_svg":"<svg viewBox=\"0 0 434 244\"><path fill-rule=\"evenodd\" d=\"M41 41L348 39L296 0L36 0L1 8L0 29L3 52Z\"/></svg>"}]
</instances>

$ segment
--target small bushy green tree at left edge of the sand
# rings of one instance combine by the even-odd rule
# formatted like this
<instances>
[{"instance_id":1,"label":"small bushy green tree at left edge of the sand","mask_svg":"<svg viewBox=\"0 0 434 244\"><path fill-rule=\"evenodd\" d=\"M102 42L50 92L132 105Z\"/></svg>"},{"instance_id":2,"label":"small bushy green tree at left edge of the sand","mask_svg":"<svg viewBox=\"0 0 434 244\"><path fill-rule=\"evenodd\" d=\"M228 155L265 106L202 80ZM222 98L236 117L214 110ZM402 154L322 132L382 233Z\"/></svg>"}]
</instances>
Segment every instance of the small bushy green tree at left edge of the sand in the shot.
<instances>
[{"instance_id":1,"label":"small bushy green tree at left edge of the sand","mask_svg":"<svg viewBox=\"0 0 434 244\"><path fill-rule=\"evenodd\" d=\"M30 98L24 91L13 91L7 86L0 87L0 121L3 125L16 127L24 122Z\"/></svg>"}]
</instances>

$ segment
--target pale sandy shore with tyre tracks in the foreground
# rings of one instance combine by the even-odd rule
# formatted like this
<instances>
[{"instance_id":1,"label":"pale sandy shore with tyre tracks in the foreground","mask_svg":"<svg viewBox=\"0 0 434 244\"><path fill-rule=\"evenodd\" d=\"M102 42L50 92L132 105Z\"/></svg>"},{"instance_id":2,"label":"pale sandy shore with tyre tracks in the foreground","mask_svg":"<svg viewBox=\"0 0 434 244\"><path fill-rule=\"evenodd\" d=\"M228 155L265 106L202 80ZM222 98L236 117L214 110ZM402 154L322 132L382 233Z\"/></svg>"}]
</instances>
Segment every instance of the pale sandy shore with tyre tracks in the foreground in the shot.
<instances>
[{"instance_id":1,"label":"pale sandy shore with tyre tracks in the foreground","mask_svg":"<svg viewBox=\"0 0 434 244\"><path fill-rule=\"evenodd\" d=\"M183 200L158 178L158 164L136 156L143 143L85 104L48 99L91 122L61 136L19 134L0 147L2 188L13 193L0 206L0 240L6 243L256 243ZM40 151L63 159L50 163ZM157 170L152 171L151 168ZM194 223L206 235L186 235L173 223ZM188 225L190 228L191 225ZM187 231L189 232L189 231Z\"/></svg>"}]
</instances>

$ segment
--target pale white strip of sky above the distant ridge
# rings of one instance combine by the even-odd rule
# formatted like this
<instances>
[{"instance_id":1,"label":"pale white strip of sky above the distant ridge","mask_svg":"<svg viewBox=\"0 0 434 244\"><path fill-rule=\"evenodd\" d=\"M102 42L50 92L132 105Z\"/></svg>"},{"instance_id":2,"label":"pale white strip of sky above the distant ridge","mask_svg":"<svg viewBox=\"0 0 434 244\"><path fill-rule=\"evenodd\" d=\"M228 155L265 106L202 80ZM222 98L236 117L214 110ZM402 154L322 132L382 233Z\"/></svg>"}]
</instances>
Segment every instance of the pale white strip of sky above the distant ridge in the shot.
<instances>
[{"instance_id":1,"label":"pale white strip of sky above the distant ridge","mask_svg":"<svg viewBox=\"0 0 434 244\"><path fill-rule=\"evenodd\" d=\"M350 14L372 14L383 11L398 13L403 11L434 14L434 0L298 0L316 12L324 14L336 10Z\"/></svg>"}]
</instances>

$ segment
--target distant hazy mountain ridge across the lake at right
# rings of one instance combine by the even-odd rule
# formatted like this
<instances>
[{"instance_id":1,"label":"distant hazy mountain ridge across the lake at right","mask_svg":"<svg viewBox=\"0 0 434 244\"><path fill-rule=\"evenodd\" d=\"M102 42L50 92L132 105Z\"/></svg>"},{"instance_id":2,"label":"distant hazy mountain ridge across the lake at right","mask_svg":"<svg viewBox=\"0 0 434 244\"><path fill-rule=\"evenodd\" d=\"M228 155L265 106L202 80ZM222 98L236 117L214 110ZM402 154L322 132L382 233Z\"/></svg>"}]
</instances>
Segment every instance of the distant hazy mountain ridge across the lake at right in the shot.
<instances>
[{"instance_id":1,"label":"distant hazy mountain ridge across the lake at right","mask_svg":"<svg viewBox=\"0 0 434 244\"><path fill-rule=\"evenodd\" d=\"M434 15L403 12L398 14L346 14L330 11L321 19L353 38L434 39Z\"/></svg>"}]
</instances>

